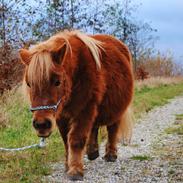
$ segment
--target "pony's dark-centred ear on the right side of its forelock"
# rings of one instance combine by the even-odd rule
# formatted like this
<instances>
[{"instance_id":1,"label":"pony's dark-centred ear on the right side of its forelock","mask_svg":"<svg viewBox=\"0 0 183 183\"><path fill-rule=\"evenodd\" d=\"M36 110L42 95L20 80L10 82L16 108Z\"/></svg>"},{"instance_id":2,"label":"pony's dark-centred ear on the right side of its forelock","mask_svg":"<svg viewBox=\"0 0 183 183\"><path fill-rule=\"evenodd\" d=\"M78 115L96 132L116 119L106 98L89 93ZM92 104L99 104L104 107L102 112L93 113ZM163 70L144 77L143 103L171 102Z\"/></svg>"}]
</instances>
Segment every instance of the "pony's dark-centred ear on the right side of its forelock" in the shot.
<instances>
[{"instance_id":1,"label":"pony's dark-centred ear on the right side of its forelock","mask_svg":"<svg viewBox=\"0 0 183 183\"><path fill-rule=\"evenodd\" d=\"M52 51L51 56L52 56L53 62L55 62L56 64L61 64L66 55L66 49L67 49L67 45L63 44L58 49Z\"/></svg>"}]
</instances>

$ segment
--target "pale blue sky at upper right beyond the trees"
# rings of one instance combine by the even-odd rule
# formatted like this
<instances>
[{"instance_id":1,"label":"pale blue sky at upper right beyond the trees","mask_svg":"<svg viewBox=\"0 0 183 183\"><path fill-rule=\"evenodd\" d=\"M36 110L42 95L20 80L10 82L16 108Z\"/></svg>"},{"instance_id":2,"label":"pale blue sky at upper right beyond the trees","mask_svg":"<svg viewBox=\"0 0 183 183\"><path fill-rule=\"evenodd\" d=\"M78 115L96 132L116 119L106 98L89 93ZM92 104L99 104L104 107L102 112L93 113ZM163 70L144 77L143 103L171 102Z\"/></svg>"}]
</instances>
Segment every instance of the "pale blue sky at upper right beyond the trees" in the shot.
<instances>
[{"instance_id":1,"label":"pale blue sky at upper right beyond the trees","mask_svg":"<svg viewBox=\"0 0 183 183\"><path fill-rule=\"evenodd\" d=\"M171 51L176 61L183 62L183 0L133 0L139 4L137 17L157 29L155 47Z\"/></svg>"}]
</instances>

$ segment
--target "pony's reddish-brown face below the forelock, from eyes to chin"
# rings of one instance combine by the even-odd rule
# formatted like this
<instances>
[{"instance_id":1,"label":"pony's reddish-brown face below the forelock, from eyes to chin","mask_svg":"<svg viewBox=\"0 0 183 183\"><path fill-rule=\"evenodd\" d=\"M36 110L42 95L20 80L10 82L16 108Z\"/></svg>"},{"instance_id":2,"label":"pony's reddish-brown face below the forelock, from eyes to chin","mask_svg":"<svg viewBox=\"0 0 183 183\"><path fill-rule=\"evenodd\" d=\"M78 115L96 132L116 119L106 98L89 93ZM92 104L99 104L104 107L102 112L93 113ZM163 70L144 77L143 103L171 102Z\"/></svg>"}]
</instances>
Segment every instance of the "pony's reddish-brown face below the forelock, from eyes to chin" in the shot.
<instances>
[{"instance_id":1,"label":"pony's reddish-brown face below the forelock, from eyes to chin","mask_svg":"<svg viewBox=\"0 0 183 183\"><path fill-rule=\"evenodd\" d=\"M26 73L28 75L28 73ZM56 115L61 111L64 100L64 74L50 72L50 78L45 80L41 88L30 83L29 77L26 77L25 83L30 98L31 107L53 106L60 100L57 109L33 110L33 127L37 131L37 135L48 137L56 125Z\"/></svg>"}]
</instances>

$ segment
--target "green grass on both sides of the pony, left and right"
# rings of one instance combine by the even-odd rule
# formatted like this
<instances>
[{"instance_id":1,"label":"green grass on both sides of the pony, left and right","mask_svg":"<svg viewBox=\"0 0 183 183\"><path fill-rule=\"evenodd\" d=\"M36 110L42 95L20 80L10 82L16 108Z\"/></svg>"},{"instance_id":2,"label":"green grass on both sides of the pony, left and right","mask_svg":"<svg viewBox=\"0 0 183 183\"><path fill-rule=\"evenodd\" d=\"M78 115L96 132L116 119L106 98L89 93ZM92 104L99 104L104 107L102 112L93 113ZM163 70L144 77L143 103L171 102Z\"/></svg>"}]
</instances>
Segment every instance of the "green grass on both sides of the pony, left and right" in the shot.
<instances>
[{"instance_id":1,"label":"green grass on both sides of the pony, left and right","mask_svg":"<svg viewBox=\"0 0 183 183\"><path fill-rule=\"evenodd\" d=\"M168 84L137 84L134 98L135 115L140 117L142 113L164 105L169 99L182 94L183 83L180 81ZM0 98L0 147L20 147L38 141L32 128L31 113L28 105L23 102L21 92L7 92ZM51 173L49 165L63 160L64 154L58 131L55 131L47 143L44 149L0 152L0 182L41 182L42 176Z\"/></svg>"}]
</instances>

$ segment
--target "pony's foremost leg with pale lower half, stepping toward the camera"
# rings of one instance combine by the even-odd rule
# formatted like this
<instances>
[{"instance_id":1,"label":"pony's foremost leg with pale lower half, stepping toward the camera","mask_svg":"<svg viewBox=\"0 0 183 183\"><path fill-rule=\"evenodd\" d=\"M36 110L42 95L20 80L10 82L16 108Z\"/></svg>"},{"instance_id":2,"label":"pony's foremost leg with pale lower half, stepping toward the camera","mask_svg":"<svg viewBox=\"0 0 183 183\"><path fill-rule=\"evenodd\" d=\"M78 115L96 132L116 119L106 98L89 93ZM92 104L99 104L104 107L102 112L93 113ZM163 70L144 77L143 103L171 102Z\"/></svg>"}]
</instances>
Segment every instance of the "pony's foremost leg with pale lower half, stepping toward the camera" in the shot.
<instances>
[{"instance_id":1,"label":"pony's foremost leg with pale lower half, stepping toward the camera","mask_svg":"<svg viewBox=\"0 0 183 183\"><path fill-rule=\"evenodd\" d=\"M96 107L90 106L74 119L68 136L68 176L83 180L83 155L96 116Z\"/></svg>"}]
</instances>

